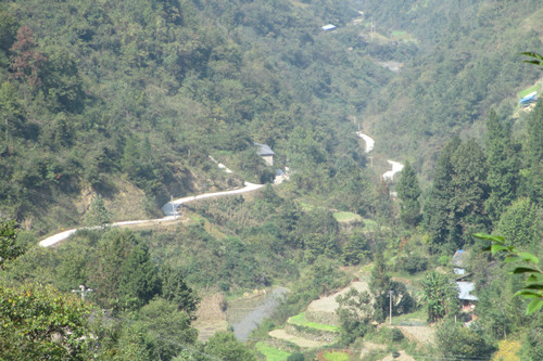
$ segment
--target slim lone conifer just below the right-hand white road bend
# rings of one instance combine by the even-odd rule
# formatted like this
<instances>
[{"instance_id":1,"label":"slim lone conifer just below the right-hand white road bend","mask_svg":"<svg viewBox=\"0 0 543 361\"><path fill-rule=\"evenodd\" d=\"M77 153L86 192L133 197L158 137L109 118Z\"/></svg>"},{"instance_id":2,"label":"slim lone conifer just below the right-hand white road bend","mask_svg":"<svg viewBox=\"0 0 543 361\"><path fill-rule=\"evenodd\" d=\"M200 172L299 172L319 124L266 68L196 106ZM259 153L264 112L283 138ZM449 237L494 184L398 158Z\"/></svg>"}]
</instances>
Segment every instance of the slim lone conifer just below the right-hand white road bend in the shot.
<instances>
[{"instance_id":1,"label":"slim lone conifer just below the right-hand white road bend","mask_svg":"<svg viewBox=\"0 0 543 361\"><path fill-rule=\"evenodd\" d=\"M416 227L420 221L420 186L415 169L406 162L396 185L400 197L400 219L407 227Z\"/></svg>"}]
</instances>

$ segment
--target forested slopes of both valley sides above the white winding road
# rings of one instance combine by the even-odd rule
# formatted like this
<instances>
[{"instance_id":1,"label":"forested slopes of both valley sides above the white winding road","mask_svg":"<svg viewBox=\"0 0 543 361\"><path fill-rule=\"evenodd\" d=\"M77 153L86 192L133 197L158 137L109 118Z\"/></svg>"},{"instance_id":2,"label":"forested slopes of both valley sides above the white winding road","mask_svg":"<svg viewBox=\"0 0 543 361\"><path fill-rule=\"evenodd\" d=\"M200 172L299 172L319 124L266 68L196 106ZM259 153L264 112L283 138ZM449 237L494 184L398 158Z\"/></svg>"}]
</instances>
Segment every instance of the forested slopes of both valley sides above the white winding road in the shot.
<instances>
[{"instance_id":1,"label":"forested slopes of both valley sides above the white winding road","mask_svg":"<svg viewBox=\"0 0 543 361\"><path fill-rule=\"evenodd\" d=\"M518 53L541 47L541 7L8 1L0 211L47 233L80 223L84 195L100 193L116 209L139 209L125 214L156 216L171 196L241 184L207 155L245 180L268 179L256 141L295 170L301 194L375 212L371 202L351 201L369 188L370 171L356 176L350 196L333 196L365 165L354 132L362 126L377 138L377 164L407 154L428 175L444 140L479 136L488 108L508 114L519 87L535 79ZM338 28L321 30L328 23ZM128 183L144 193L136 204L123 201Z\"/></svg>"}]
</instances>

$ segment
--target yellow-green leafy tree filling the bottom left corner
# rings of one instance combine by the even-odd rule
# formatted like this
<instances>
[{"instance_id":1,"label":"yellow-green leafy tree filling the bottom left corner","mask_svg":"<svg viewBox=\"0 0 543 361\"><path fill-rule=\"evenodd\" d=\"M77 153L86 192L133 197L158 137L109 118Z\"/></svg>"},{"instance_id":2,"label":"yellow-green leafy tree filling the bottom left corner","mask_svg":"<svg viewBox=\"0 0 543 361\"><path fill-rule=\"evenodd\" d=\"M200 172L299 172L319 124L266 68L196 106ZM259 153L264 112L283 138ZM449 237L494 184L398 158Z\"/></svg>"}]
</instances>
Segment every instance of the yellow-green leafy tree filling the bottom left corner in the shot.
<instances>
[{"instance_id":1,"label":"yellow-green leafy tree filling the bottom left corner","mask_svg":"<svg viewBox=\"0 0 543 361\"><path fill-rule=\"evenodd\" d=\"M51 286L0 286L0 359L89 360L90 312Z\"/></svg>"}]
</instances>

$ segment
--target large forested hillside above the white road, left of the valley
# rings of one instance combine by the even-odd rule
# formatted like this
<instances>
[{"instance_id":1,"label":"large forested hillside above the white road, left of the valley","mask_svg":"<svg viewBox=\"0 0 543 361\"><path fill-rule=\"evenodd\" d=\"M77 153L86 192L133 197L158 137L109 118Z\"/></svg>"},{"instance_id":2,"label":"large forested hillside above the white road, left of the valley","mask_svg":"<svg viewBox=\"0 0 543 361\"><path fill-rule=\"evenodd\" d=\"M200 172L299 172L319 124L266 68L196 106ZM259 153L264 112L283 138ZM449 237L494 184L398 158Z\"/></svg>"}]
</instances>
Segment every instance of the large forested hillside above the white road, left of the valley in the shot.
<instances>
[{"instance_id":1,"label":"large forested hillside above the white road, left of the valley","mask_svg":"<svg viewBox=\"0 0 543 361\"><path fill-rule=\"evenodd\" d=\"M73 199L115 194L119 177L152 212L226 184L210 154L260 181L254 141L325 177L343 156L364 165L348 116L391 76L320 30L354 15L349 2L4 3L3 212L77 223Z\"/></svg>"}]
</instances>

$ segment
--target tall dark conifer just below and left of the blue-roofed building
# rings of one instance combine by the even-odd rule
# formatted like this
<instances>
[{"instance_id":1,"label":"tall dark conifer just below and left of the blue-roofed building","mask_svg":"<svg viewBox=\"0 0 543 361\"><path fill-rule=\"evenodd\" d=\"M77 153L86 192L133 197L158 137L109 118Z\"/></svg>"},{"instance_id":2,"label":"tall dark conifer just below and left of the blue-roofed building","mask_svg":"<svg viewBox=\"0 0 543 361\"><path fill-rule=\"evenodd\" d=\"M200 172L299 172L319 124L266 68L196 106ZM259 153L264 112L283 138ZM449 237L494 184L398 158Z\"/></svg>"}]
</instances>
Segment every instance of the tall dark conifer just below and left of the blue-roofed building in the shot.
<instances>
[{"instance_id":1,"label":"tall dark conifer just below and left of the blue-roofed building","mask_svg":"<svg viewBox=\"0 0 543 361\"><path fill-rule=\"evenodd\" d=\"M484 208L493 222L516 197L518 159L512 141L510 126L501 121L494 111L487 120L487 181L490 195Z\"/></svg>"}]
</instances>

